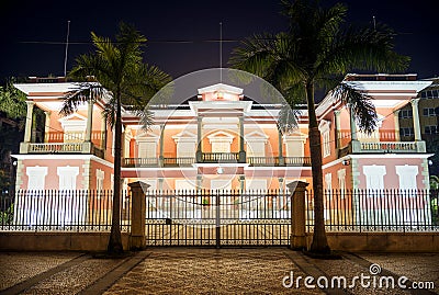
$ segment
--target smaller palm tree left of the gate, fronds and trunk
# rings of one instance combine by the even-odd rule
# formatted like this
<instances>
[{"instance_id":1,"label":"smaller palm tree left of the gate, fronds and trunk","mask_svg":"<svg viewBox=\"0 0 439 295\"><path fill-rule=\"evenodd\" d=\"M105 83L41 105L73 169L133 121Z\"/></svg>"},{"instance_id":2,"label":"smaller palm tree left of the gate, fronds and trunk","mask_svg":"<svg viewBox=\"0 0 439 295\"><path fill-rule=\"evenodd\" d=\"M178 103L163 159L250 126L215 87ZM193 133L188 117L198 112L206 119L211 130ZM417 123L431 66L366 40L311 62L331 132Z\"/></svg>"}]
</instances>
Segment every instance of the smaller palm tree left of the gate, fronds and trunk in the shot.
<instances>
[{"instance_id":1,"label":"smaller palm tree left of the gate, fronds and trunk","mask_svg":"<svg viewBox=\"0 0 439 295\"><path fill-rule=\"evenodd\" d=\"M78 89L65 97L61 113L70 114L86 101L103 99L104 117L115 134L113 212L108 252L119 253L123 251L120 227L122 107L134 111L147 123L150 117L148 112L144 112L145 106L170 81L170 77L143 61L142 46L146 38L131 25L121 23L114 43L93 32L91 38L95 52L76 59L69 77L81 82Z\"/></svg>"}]
</instances>

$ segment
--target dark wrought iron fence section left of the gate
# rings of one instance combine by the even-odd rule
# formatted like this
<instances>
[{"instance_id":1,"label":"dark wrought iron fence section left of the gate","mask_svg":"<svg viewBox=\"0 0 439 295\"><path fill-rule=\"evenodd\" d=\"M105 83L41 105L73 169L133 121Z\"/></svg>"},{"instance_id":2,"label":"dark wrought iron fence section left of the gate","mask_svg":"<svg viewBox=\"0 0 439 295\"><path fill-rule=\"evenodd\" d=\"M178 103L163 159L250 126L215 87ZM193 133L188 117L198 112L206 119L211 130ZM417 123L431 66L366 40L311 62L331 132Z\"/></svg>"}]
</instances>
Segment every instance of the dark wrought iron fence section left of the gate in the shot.
<instances>
[{"instance_id":1,"label":"dark wrought iron fence section left of the gate","mask_svg":"<svg viewBox=\"0 0 439 295\"><path fill-rule=\"evenodd\" d=\"M0 197L0 230L109 231L112 191L19 191ZM131 198L122 194L121 230L130 231Z\"/></svg>"}]
</instances>

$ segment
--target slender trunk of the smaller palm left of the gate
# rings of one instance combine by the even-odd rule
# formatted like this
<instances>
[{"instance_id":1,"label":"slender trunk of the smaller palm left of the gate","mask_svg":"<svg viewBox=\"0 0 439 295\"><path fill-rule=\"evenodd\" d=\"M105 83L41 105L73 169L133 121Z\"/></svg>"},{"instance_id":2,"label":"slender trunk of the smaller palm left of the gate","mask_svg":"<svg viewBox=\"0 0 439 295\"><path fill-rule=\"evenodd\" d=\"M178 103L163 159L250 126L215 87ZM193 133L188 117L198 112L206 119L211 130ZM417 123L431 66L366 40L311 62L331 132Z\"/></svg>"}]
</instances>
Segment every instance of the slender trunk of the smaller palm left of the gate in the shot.
<instances>
[{"instance_id":1,"label":"slender trunk of the smaller palm left of the gate","mask_svg":"<svg viewBox=\"0 0 439 295\"><path fill-rule=\"evenodd\" d=\"M106 248L109 253L123 252L122 235L121 235L121 139L122 139L122 110L121 110L121 94L116 93L116 120L115 120L115 138L114 138L114 186L113 186L113 212L111 223L111 234L109 246Z\"/></svg>"}]
</instances>

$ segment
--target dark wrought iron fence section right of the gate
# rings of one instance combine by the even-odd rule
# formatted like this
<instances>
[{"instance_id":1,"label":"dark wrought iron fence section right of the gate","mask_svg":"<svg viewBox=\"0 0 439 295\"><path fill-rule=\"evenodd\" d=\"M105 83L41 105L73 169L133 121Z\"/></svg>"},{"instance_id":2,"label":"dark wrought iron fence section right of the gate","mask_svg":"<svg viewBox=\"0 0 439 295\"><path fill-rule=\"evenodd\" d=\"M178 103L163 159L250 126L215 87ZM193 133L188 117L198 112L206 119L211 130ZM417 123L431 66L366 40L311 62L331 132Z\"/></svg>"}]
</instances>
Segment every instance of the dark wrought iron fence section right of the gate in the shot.
<instances>
[{"instance_id":1,"label":"dark wrought iron fence section right of the gate","mask_svg":"<svg viewBox=\"0 0 439 295\"><path fill-rule=\"evenodd\" d=\"M314 195L305 196L306 227L314 227ZM324 193L327 231L439 231L438 191L330 190Z\"/></svg>"}]
</instances>

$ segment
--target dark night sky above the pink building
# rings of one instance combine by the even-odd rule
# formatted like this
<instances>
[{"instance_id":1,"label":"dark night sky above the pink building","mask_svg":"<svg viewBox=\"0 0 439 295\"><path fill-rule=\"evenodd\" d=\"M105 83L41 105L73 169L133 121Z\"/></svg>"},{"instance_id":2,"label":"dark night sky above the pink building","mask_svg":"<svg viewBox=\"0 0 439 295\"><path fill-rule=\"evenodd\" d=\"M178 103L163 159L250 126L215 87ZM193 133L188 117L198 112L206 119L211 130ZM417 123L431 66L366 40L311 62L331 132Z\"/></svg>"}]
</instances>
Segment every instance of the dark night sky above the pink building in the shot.
<instances>
[{"instance_id":1,"label":"dark night sky above the pink building","mask_svg":"<svg viewBox=\"0 0 439 295\"><path fill-rule=\"evenodd\" d=\"M336 0L322 3L330 5ZM435 0L341 1L348 21L372 25L372 16L397 33L396 50L412 57L407 72L419 78L439 75L439 5ZM0 79L11 76L63 76L67 21L70 46L67 69L88 53L90 32L114 36L120 21L134 24L148 39L145 60L178 78L219 66L219 22L223 60L232 48L254 33L286 30L280 1L0 1ZM179 43L176 41L188 41ZM75 44L81 43L81 44Z\"/></svg>"}]
</instances>

